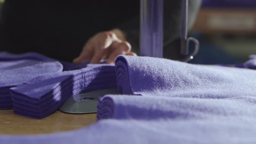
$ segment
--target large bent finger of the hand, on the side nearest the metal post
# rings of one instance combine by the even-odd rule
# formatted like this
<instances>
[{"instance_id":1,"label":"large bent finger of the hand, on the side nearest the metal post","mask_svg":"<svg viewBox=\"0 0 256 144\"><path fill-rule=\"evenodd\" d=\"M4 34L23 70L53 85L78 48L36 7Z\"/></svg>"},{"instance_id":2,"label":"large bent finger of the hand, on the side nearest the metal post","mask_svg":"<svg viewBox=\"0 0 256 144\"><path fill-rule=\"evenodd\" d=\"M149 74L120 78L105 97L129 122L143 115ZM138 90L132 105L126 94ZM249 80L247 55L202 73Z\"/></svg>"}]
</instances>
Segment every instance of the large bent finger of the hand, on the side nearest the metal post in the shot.
<instances>
[{"instance_id":1,"label":"large bent finger of the hand, on the side nearest the metal post","mask_svg":"<svg viewBox=\"0 0 256 144\"><path fill-rule=\"evenodd\" d=\"M111 47L115 50L108 57L107 64L114 63L117 56L126 55L128 52L131 52L131 45L128 42L115 41Z\"/></svg>"}]
</instances>

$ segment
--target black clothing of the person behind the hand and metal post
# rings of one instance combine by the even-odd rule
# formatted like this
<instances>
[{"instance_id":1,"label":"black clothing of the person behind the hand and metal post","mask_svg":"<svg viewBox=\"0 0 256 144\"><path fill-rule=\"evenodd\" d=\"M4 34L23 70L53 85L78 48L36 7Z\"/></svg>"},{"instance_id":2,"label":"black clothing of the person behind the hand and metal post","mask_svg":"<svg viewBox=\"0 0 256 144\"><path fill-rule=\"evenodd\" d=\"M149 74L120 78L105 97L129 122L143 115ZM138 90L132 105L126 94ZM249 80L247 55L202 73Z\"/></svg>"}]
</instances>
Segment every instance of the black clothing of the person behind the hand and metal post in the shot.
<instances>
[{"instance_id":1,"label":"black clothing of the person behind the hand and metal post","mask_svg":"<svg viewBox=\"0 0 256 144\"><path fill-rule=\"evenodd\" d=\"M194 19L200 0L189 1ZM180 10L181 0L164 1L165 41L179 37ZM140 0L5 0L0 51L39 52L71 61L91 36L113 28L124 31L138 51L139 13Z\"/></svg>"}]
</instances>

